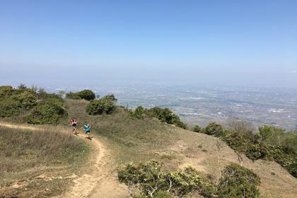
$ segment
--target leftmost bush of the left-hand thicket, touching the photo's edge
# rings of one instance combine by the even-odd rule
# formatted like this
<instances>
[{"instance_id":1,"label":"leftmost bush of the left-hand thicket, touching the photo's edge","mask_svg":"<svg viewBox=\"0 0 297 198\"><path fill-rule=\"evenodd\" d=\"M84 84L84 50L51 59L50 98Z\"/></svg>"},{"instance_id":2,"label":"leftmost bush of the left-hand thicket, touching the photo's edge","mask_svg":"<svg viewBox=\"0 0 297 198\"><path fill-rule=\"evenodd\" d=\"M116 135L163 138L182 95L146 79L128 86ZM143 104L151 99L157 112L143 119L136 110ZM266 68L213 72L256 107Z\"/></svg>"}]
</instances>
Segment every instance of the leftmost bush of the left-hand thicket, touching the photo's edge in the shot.
<instances>
[{"instance_id":1,"label":"leftmost bush of the left-hand thicket, touching the photo's edge","mask_svg":"<svg viewBox=\"0 0 297 198\"><path fill-rule=\"evenodd\" d=\"M18 88L0 86L0 117L18 115L21 110L30 110L37 103L37 94L21 85Z\"/></svg>"}]
</instances>

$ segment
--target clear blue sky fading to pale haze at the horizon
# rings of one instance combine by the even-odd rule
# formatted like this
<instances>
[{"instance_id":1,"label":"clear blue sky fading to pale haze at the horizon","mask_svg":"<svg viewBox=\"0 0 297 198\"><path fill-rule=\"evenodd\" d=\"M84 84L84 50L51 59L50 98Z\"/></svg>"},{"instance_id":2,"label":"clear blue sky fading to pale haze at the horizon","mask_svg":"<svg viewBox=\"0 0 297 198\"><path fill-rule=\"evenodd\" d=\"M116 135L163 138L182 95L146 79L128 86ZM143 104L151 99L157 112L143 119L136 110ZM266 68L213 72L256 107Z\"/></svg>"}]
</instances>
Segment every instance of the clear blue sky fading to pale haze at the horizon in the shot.
<instances>
[{"instance_id":1,"label":"clear blue sky fading to pale haze at the horizon","mask_svg":"<svg viewBox=\"0 0 297 198\"><path fill-rule=\"evenodd\" d=\"M0 1L0 84L297 87L297 1Z\"/></svg>"}]
</instances>

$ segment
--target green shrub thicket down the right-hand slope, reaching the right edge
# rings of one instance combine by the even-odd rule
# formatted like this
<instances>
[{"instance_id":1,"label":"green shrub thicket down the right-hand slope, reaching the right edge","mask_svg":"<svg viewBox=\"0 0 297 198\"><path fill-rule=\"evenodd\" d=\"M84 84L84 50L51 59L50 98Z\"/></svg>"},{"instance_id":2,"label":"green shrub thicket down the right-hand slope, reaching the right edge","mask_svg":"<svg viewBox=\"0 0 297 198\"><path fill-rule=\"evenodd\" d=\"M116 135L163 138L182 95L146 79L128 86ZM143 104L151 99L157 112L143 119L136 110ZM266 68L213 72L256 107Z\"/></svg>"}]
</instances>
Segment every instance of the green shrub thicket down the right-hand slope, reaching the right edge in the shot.
<instances>
[{"instance_id":1,"label":"green shrub thicket down the right-hand slope, reaching the right edge","mask_svg":"<svg viewBox=\"0 0 297 198\"><path fill-rule=\"evenodd\" d=\"M235 151L245 153L245 156L252 160L275 161L297 177L297 132L263 126L259 127L259 133L251 134L250 130L245 133L223 129L221 124L216 122L209 123L199 132L219 137Z\"/></svg>"}]
</instances>

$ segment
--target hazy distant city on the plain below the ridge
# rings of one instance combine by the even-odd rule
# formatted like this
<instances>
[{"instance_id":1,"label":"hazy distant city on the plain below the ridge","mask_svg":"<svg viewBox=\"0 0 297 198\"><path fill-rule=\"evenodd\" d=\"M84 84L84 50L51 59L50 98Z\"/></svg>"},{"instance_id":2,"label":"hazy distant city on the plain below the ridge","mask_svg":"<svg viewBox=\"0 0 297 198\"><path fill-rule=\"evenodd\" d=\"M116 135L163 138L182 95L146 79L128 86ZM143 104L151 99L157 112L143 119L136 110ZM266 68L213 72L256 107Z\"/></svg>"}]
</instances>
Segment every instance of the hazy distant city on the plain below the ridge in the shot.
<instances>
[{"instance_id":1,"label":"hazy distant city on the plain below the ridge","mask_svg":"<svg viewBox=\"0 0 297 198\"><path fill-rule=\"evenodd\" d=\"M114 94L118 104L135 108L170 107L187 124L205 126L211 121L245 120L297 129L297 91L260 88L195 86L91 86L47 88L49 91L78 91L90 88L96 95Z\"/></svg>"}]
</instances>

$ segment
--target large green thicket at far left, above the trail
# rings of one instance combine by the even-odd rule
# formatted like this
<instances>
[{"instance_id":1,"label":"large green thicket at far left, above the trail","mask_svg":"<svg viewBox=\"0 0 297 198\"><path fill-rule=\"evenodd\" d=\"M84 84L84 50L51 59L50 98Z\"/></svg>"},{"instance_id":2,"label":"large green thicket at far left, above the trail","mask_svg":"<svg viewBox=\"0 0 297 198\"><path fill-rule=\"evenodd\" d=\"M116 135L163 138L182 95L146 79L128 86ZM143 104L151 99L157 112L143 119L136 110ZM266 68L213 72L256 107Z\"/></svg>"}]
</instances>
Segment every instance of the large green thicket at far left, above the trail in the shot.
<instances>
[{"instance_id":1,"label":"large green thicket at far left, above the trail","mask_svg":"<svg viewBox=\"0 0 297 198\"><path fill-rule=\"evenodd\" d=\"M65 116L60 95L22 84L18 88L0 86L0 117L18 117L28 124L58 124Z\"/></svg>"}]
</instances>

